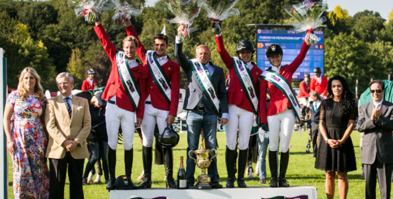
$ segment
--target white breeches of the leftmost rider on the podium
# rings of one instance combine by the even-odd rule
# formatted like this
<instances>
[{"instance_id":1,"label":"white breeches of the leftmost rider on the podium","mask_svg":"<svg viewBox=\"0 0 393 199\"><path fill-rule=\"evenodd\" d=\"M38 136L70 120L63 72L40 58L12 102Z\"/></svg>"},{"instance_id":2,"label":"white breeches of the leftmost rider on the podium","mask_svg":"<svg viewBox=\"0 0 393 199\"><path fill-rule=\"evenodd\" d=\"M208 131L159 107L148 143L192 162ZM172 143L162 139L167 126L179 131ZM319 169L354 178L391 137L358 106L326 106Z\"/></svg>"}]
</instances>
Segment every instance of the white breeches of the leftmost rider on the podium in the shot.
<instances>
[{"instance_id":1,"label":"white breeches of the leftmost rider on the podium","mask_svg":"<svg viewBox=\"0 0 393 199\"><path fill-rule=\"evenodd\" d=\"M119 127L121 127L124 150L131 150L135 132L135 113L108 103L105 121L107 125L109 147L111 147L112 150L116 150Z\"/></svg>"}]
</instances>

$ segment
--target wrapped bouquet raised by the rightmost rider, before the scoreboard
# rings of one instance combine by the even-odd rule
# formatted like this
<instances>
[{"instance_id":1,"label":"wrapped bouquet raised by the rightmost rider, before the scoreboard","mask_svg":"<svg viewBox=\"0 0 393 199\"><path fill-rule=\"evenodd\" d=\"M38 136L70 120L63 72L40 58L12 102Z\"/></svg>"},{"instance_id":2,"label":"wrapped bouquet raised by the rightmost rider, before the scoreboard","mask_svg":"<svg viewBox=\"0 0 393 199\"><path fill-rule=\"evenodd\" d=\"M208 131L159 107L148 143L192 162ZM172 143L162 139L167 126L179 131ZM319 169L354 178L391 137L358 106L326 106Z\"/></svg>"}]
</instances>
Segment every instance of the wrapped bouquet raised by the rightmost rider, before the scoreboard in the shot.
<instances>
[{"instance_id":1,"label":"wrapped bouquet raised by the rightmost rider, before the scoreboard","mask_svg":"<svg viewBox=\"0 0 393 199\"><path fill-rule=\"evenodd\" d=\"M322 26L326 17L322 16L327 8L326 2L311 2L305 0L299 4L284 7L285 11L292 17L290 23L297 32L304 32L309 29L316 29ZM320 39L313 33L306 36L305 41L308 45L316 44Z\"/></svg>"}]
</instances>

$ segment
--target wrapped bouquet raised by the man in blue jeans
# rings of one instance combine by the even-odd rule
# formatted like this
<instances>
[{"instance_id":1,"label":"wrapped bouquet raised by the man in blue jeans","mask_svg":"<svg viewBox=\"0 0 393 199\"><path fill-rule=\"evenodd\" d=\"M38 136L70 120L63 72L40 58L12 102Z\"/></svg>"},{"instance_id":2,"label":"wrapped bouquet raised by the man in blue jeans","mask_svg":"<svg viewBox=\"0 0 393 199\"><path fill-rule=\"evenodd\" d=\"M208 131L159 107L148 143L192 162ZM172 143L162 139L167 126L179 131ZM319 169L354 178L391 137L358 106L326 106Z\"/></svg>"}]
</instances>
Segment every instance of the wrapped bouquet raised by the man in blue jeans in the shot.
<instances>
[{"instance_id":1,"label":"wrapped bouquet raised by the man in blue jeans","mask_svg":"<svg viewBox=\"0 0 393 199\"><path fill-rule=\"evenodd\" d=\"M179 32L178 35L182 39L188 39L189 33L196 29L190 28L192 22L198 17L201 10L201 0L170 0L168 9L175 15L175 18L168 20L170 23L184 24L184 32Z\"/></svg>"}]
</instances>

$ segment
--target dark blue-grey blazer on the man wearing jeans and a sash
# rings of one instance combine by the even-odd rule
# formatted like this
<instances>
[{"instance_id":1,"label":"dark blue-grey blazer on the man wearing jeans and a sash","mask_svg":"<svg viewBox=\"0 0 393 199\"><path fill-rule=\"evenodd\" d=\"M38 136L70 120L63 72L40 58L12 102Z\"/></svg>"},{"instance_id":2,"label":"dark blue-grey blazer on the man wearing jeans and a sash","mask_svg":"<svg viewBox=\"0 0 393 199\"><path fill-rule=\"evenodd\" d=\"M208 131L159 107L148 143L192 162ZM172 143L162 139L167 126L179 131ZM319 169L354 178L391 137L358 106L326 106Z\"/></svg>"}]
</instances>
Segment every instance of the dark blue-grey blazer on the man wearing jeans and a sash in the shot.
<instances>
[{"instance_id":1,"label":"dark blue-grey blazer on the man wearing jeans and a sash","mask_svg":"<svg viewBox=\"0 0 393 199\"><path fill-rule=\"evenodd\" d=\"M183 43L175 43L175 57L180 66L186 73L188 80L188 88L186 90L186 97L184 99L183 109L192 110L198 104L202 98L202 103L204 104L205 111L208 114L215 114L214 105L209 103L206 96L203 94L202 88L196 79L194 72L192 71L191 65L188 59L183 54ZM212 84L214 90L219 99L220 111L222 113L228 113L228 100L227 100L227 90L225 87L224 70L210 62L210 65L214 67L214 72L211 75Z\"/></svg>"}]
</instances>

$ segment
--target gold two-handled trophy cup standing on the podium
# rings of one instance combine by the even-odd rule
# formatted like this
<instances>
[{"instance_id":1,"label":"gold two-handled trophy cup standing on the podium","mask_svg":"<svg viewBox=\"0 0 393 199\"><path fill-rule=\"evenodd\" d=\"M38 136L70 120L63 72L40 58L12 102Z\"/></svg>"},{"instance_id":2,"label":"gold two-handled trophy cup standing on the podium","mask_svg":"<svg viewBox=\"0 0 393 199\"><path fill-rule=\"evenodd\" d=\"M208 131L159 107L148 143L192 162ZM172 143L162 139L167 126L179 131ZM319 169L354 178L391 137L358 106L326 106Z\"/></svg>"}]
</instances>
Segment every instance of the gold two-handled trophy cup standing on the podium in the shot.
<instances>
[{"instance_id":1,"label":"gold two-handled trophy cup standing on the podium","mask_svg":"<svg viewBox=\"0 0 393 199\"><path fill-rule=\"evenodd\" d=\"M209 154L214 151L214 156L209 159ZM196 160L191 157L191 153L196 155ZM188 152L188 156L194 160L196 165L202 169L201 175L198 176L198 182L195 184L198 189L211 189L211 180L210 176L206 174L206 168L208 168L211 164L213 158L217 156L217 151L215 149L206 150L203 147L203 142L201 142L201 148L198 151L190 151Z\"/></svg>"}]
</instances>

